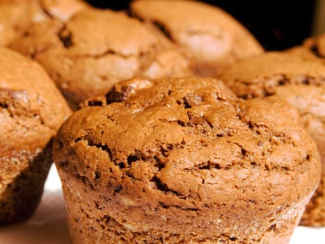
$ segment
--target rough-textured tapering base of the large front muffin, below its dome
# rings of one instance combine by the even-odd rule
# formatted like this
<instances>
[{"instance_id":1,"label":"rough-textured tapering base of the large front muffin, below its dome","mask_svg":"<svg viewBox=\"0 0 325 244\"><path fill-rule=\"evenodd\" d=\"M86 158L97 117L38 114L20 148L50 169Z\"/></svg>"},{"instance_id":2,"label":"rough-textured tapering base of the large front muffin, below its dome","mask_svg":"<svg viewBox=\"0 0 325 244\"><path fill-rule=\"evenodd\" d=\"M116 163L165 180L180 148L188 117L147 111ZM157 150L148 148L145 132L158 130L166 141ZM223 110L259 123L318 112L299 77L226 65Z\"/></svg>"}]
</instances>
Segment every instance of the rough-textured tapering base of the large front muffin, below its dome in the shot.
<instances>
[{"instance_id":1,"label":"rough-textured tapering base of the large front muffin, below its dome","mask_svg":"<svg viewBox=\"0 0 325 244\"><path fill-rule=\"evenodd\" d=\"M68 226L70 236L74 244L93 244L93 243L289 243L295 227L299 224L301 215L310 196L303 198L299 203L279 210L278 213L266 218L265 220L248 220L251 222L246 227L228 226L223 227L221 218L209 216L209 210L204 216L199 216L191 210L185 211L187 223L184 222L184 215L176 216L173 210L169 211L169 206L158 208L156 216L152 215L152 209L146 209L146 206L132 206L132 200L125 200L124 204L130 205L129 216L136 216L137 220L132 223L132 218L128 220L112 217L114 212L123 213L120 206L116 207L117 200L107 190L104 195L102 190L95 190L87 183L86 178L80 176L71 176L64 169L58 168L63 183L63 192L68 212ZM172 208L172 207L171 207ZM170 209L171 209L170 208ZM148 211L147 211L148 210ZM159 213L161 212L161 213ZM215 213L215 212L214 212ZM214 214L212 213L212 215ZM201 213L200 213L201 214ZM155 218L161 218L161 221L155 222ZM174 215L175 216L175 215ZM219 216L220 217L220 216ZM146 219L146 220L145 220ZM143 220L143 221L142 221ZM202 221L203 220L203 221ZM136 222L142 222L136 224ZM177 225L175 222L180 221ZM159 223L160 222L160 223ZM174 222L174 223L173 223ZM161 227L161 228L159 228ZM197 231L193 231L197 229ZM220 229L225 229L238 235L228 235L220 233ZM215 236L207 237L204 232L216 233ZM243 235L244 233L244 235Z\"/></svg>"}]
</instances>

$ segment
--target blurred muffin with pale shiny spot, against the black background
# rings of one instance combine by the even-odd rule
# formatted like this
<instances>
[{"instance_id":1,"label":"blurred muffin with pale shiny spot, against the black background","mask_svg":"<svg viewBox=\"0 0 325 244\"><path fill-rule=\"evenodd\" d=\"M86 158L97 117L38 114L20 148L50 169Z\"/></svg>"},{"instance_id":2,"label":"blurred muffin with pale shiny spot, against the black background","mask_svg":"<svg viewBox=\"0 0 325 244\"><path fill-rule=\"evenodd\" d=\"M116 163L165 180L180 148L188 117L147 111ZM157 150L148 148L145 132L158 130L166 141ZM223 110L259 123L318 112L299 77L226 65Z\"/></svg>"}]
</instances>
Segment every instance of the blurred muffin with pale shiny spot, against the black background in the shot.
<instances>
[{"instance_id":1,"label":"blurred muffin with pale shiny spot, against the black background","mask_svg":"<svg viewBox=\"0 0 325 244\"><path fill-rule=\"evenodd\" d=\"M196 75L216 75L239 59L263 52L237 20L199 1L137 0L131 10L141 20L158 26L173 42L187 47L196 61Z\"/></svg>"}]
</instances>

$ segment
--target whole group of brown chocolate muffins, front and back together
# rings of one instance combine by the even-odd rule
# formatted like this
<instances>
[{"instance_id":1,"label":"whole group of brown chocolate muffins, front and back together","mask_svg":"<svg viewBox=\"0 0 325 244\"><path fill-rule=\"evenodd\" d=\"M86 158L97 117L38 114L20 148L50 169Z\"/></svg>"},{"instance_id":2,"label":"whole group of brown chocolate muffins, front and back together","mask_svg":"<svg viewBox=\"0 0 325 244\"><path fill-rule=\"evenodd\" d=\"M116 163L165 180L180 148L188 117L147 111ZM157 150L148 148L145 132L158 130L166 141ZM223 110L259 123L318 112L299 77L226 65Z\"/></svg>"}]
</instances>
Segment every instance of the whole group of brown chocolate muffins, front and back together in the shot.
<instances>
[{"instance_id":1,"label":"whole group of brown chocolate muffins, front and back together","mask_svg":"<svg viewBox=\"0 0 325 244\"><path fill-rule=\"evenodd\" d=\"M73 243L325 226L325 35L264 52L182 0L0 0L0 27L0 226L33 214L52 162Z\"/></svg>"}]
</instances>

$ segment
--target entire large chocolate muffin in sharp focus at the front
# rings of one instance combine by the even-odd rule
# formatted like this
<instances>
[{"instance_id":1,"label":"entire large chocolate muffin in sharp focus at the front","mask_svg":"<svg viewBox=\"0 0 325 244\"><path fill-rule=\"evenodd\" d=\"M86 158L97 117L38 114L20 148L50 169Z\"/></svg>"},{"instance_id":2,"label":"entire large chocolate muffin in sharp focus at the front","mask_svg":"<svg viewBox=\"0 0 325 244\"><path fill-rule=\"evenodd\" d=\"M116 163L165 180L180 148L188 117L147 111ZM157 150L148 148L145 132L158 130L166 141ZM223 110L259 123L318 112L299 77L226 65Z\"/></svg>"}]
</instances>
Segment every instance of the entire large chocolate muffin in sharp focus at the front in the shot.
<instances>
[{"instance_id":1,"label":"entire large chocolate muffin in sharp focus at the front","mask_svg":"<svg viewBox=\"0 0 325 244\"><path fill-rule=\"evenodd\" d=\"M288 243L320 170L294 107L202 77L87 100L54 161L73 243Z\"/></svg>"}]
</instances>

